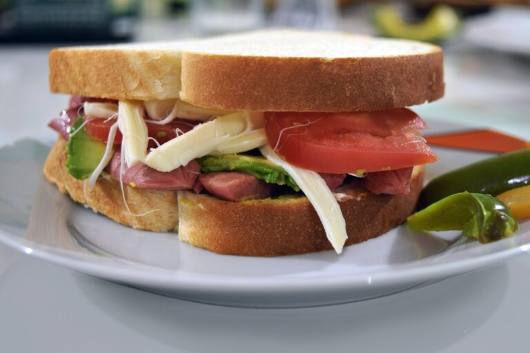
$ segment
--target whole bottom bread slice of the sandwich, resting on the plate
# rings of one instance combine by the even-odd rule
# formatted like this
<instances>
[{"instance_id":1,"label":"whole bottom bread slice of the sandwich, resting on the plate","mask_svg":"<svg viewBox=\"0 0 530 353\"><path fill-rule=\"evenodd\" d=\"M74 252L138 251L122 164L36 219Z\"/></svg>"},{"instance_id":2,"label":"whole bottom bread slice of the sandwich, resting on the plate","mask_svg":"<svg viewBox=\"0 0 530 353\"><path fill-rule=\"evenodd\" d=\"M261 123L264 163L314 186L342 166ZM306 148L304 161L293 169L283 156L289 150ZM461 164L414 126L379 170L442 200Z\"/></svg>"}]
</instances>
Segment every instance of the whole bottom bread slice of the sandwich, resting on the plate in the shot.
<instances>
[{"instance_id":1,"label":"whole bottom bread slice of the sandwich, resting on the plate","mask_svg":"<svg viewBox=\"0 0 530 353\"><path fill-rule=\"evenodd\" d=\"M219 254L279 256L331 250L322 223L305 196L288 195L253 201L223 201L190 191L159 191L100 178L95 188L74 179L66 169L66 142L59 138L44 165L44 175L62 193L95 212L132 228L177 231L179 239ZM373 194L351 183L335 194L346 219L346 245L384 234L413 212L422 190L423 167L414 168L411 192ZM341 187L342 188L342 187ZM150 210L157 210L138 216Z\"/></svg>"}]
</instances>

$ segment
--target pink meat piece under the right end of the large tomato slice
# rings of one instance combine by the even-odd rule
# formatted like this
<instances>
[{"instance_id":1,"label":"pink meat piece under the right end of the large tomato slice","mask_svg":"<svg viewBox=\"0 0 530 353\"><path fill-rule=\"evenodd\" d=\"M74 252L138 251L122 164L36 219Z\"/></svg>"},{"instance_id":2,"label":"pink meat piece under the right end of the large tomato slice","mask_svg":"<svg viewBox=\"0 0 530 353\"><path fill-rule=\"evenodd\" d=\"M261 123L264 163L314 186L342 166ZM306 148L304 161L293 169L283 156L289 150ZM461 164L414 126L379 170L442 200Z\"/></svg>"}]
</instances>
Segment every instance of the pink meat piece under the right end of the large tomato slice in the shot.
<instances>
[{"instance_id":1,"label":"pink meat piece under the right end of the large tomato slice","mask_svg":"<svg viewBox=\"0 0 530 353\"><path fill-rule=\"evenodd\" d=\"M412 167L371 172L362 179L364 188L374 194L406 195L411 191Z\"/></svg>"}]
</instances>

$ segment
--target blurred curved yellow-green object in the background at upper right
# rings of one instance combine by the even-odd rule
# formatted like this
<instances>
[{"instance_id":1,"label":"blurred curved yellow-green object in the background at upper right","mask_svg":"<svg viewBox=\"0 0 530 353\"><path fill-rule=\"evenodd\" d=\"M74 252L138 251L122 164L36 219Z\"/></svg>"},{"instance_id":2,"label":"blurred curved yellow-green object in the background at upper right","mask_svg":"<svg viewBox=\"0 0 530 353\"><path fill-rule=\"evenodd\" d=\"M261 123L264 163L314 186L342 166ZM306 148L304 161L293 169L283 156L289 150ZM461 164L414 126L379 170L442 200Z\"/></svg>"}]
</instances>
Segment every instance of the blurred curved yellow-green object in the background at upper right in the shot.
<instances>
[{"instance_id":1,"label":"blurred curved yellow-green object in the background at upper right","mask_svg":"<svg viewBox=\"0 0 530 353\"><path fill-rule=\"evenodd\" d=\"M406 23L391 5L377 6L373 20L382 35L415 41L440 41L451 36L460 26L457 12L445 5L435 6L418 23Z\"/></svg>"}]
</instances>

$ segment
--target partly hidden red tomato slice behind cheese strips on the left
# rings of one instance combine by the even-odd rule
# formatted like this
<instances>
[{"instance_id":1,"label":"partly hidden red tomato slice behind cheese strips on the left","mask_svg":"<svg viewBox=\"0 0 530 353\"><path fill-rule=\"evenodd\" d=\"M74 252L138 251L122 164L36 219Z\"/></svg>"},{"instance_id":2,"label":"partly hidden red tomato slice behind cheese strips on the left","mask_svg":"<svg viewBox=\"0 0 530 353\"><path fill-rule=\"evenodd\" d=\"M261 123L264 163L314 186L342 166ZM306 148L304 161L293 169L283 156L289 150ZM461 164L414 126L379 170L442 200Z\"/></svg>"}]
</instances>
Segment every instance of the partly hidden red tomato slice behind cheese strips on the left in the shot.
<instances>
[{"instance_id":1,"label":"partly hidden red tomato slice behind cheese strips on the left","mask_svg":"<svg viewBox=\"0 0 530 353\"><path fill-rule=\"evenodd\" d=\"M95 139L106 143L108 138L108 131L110 130L110 127L114 123L116 123L116 120L90 117L85 117L84 119L86 121L86 132L88 132L91 137L94 137ZM147 130L149 137L153 137L153 139L157 140L158 143L165 143L170 139L174 139L175 137L177 137L177 129L179 131L179 134L188 132L193 129L193 127L197 125L197 123L198 122L196 121L175 119L165 125L147 123ZM121 143L121 139L121 132L117 130L116 137L114 139L114 144L119 145Z\"/></svg>"}]
</instances>

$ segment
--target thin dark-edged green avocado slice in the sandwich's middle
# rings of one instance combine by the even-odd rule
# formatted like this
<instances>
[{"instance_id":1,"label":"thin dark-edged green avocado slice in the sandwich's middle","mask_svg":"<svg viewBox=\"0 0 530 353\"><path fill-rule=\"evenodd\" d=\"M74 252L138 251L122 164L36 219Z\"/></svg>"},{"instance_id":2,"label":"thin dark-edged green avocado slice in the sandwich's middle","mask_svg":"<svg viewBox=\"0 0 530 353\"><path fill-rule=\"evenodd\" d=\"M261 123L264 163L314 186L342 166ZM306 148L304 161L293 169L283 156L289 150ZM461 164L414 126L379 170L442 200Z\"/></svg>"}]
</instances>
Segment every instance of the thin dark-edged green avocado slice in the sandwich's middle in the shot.
<instances>
[{"instance_id":1,"label":"thin dark-edged green avocado slice in the sandwich's middle","mask_svg":"<svg viewBox=\"0 0 530 353\"><path fill-rule=\"evenodd\" d=\"M271 163L264 157L247 156L244 154L221 154L205 156L197 159L204 173L236 171L251 174L267 183L287 185L300 191L297 183L284 168Z\"/></svg>"}]
</instances>

